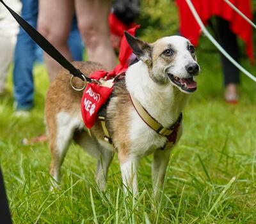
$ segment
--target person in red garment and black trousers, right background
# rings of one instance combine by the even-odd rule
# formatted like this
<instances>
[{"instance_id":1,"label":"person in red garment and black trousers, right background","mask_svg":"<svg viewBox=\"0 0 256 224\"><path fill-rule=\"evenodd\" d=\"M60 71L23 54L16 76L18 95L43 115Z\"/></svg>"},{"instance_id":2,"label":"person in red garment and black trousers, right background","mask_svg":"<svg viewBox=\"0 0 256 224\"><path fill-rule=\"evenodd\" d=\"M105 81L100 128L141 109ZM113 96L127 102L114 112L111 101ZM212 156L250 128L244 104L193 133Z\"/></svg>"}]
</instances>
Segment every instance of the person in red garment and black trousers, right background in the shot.
<instances>
[{"instance_id":1,"label":"person in red garment and black trousers, right background","mask_svg":"<svg viewBox=\"0 0 256 224\"><path fill-rule=\"evenodd\" d=\"M179 8L180 34L189 38L191 43L198 45L201 29L198 26L188 4L184 0L176 0ZM234 11L223 0L193 0L193 5L204 24L209 23L212 17L216 17L216 26L214 32L220 45L231 57L239 61L239 47L237 36L244 41L246 45L246 54L251 61L253 57L253 36L252 26L246 22L236 11ZM252 20L252 6L250 0L234 1L235 6L241 10L246 17ZM237 86L239 85L239 70L230 63L228 59L221 55L223 66L223 83L225 86L225 100L228 103L238 102Z\"/></svg>"}]
</instances>

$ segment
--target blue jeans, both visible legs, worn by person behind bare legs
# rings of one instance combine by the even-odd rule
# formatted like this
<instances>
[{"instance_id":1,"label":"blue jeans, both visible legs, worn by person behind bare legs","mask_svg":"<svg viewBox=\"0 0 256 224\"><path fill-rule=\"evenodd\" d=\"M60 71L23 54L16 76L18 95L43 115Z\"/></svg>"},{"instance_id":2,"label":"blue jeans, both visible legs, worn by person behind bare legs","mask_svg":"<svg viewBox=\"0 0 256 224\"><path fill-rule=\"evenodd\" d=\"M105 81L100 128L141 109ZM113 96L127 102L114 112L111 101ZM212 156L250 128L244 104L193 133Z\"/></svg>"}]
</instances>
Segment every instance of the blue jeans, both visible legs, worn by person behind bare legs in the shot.
<instances>
[{"instance_id":1,"label":"blue jeans, both visible legs, worn by person behind bare legs","mask_svg":"<svg viewBox=\"0 0 256 224\"><path fill-rule=\"evenodd\" d=\"M21 16L36 28L38 0L22 0ZM83 60L83 43L77 30L76 19L72 21L68 46L74 61ZM13 84L16 110L31 110L34 106L33 64L36 60L36 43L20 28L14 54Z\"/></svg>"}]
</instances>

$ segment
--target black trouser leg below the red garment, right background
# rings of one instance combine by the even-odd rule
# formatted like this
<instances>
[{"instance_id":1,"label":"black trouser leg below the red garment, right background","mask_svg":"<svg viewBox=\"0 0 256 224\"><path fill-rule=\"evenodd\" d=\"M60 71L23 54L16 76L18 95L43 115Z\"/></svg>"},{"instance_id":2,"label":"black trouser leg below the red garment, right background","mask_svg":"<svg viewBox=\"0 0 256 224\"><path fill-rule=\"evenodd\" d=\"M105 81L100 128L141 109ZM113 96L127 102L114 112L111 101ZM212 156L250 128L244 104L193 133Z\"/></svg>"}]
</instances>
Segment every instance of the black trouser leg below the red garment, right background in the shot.
<instances>
[{"instance_id":1,"label":"black trouser leg below the red garment, right background","mask_svg":"<svg viewBox=\"0 0 256 224\"><path fill-rule=\"evenodd\" d=\"M239 61L239 47L237 44L236 34L230 31L228 21L217 17L216 24L217 36L221 47L223 47L223 49L225 49L236 61ZM240 79L238 68L236 68L234 64L230 63L223 54L221 54L221 63L223 66L225 86L230 83L239 84Z\"/></svg>"}]
</instances>

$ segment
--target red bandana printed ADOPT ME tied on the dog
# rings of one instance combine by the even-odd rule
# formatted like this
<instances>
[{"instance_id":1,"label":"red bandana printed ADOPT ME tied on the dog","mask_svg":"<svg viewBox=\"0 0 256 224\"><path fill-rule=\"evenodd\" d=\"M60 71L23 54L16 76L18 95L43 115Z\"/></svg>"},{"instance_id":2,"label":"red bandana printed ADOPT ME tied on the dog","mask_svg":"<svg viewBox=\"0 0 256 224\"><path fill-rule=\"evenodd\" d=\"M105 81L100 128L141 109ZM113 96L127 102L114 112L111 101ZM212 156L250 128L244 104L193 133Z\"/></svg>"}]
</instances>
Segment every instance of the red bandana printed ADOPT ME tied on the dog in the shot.
<instances>
[{"instance_id":1,"label":"red bandana printed ADOPT ME tied on the dog","mask_svg":"<svg viewBox=\"0 0 256 224\"><path fill-rule=\"evenodd\" d=\"M134 36L136 29L139 27L140 26L135 26L132 29L129 29L127 32ZM129 57L131 54L132 49L129 47L125 36L123 36L120 43L120 53L118 57L120 63L114 68L113 71L95 71L90 75L90 78L96 80L104 78L104 80L109 80L116 77L116 75L124 73L128 68ZM92 128L97 119L100 108L102 105L104 105L104 103L106 103L112 91L113 86L106 87L95 83L87 83L81 101L81 112L86 128Z\"/></svg>"}]
</instances>

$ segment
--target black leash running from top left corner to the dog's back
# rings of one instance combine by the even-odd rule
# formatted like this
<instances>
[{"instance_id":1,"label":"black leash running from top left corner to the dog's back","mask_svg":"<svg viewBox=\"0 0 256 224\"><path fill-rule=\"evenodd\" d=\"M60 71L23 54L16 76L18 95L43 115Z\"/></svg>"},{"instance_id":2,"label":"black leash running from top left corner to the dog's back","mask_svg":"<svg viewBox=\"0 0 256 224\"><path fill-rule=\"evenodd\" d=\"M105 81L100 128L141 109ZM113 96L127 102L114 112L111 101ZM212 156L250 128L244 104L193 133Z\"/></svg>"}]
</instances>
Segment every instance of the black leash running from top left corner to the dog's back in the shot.
<instances>
[{"instance_id":1,"label":"black leash running from top left corner to the dog's back","mask_svg":"<svg viewBox=\"0 0 256 224\"><path fill-rule=\"evenodd\" d=\"M67 69L72 75L86 79L87 82L92 82L91 78L86 77L79 69L77 69L73 64L71 64L51 43L42 36L36 29L34 29L26 20L22 19L15 11L7 6L3 0L0 2L5 6L5 8L10 11L14 19L20 24L20 26L29 34L29 36L55 61L61 64L65 69Z\"/></svg>"}]
</instances>

